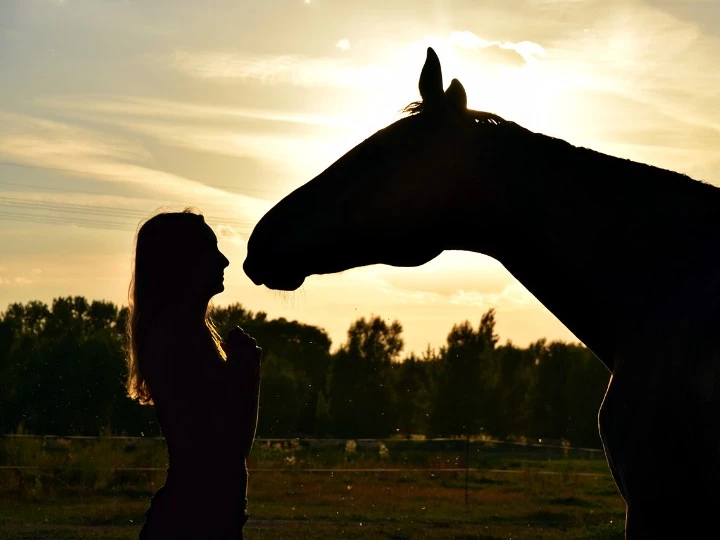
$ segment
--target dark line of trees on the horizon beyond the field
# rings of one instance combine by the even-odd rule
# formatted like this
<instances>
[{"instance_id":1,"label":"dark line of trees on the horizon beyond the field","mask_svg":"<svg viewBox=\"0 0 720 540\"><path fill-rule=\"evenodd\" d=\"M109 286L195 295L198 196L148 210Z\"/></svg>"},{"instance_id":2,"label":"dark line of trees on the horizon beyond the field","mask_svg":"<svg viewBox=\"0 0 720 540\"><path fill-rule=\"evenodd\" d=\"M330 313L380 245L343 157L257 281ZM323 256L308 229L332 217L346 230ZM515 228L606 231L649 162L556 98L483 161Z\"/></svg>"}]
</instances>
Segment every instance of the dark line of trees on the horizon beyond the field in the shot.
<instances>
[{"instance_id":1,"label":"dark line of trees on the horizon beyond the field","mask_svg":"<svg viewBox=\"0 0 720 540\"><path fill-rule=\"evenodd\" d=\"M0 313L0 432L160 435L125 391L127 308L64 297ZM499 344L495 312L455 324L439 350L403 356L402 325L360 318L335 352L322 328L214 307L264 350L259 437L393 435L565 439L599 447L609 373L579 344Z\"/></svg>"}]
</instances>

